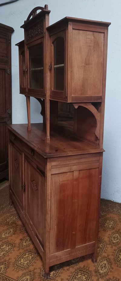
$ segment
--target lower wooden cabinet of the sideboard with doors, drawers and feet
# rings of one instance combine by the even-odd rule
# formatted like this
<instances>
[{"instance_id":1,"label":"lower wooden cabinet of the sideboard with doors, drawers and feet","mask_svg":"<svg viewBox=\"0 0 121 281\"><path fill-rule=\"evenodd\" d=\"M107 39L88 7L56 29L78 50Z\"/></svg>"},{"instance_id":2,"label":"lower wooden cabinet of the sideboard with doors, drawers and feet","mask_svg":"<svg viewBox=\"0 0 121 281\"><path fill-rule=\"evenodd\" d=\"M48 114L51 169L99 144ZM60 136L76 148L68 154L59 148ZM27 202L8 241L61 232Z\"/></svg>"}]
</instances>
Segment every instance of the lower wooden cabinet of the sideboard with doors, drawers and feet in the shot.
<instances>
[{"instance_id":1,"label":"lower wooden cabinet of the sideboard with doors, drawers and feet","mask_svg":"<svg viewBox=\"0 0 121 281\"><path fill-rule=\"evenodd\" d=\"M103 153L44 158L9 140L10 198L49 267L92 253L97 259Z\"/></svg>"}]
</instances>

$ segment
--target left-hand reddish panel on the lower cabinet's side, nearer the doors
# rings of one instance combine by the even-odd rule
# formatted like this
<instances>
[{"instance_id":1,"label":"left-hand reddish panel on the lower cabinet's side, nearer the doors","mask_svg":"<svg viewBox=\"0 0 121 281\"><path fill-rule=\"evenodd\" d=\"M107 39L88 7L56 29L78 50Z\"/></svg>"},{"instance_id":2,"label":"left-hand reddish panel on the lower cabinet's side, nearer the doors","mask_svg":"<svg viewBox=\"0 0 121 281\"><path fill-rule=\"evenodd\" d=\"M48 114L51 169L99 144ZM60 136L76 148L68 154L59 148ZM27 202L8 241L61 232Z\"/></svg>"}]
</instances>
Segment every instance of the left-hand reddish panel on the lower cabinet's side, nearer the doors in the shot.
<instances>
[{"instance_id":1,"label":"left-hand reddish panel on the lower cabinet's side, nearer the doors","mask_svg":"<svg viewBox=\"0 0 121 281\"><path fill-rule=\"evenodd\" d=\"M70 249L73 172L51 175L50 254Z\"/></svg>"}]
</instances>

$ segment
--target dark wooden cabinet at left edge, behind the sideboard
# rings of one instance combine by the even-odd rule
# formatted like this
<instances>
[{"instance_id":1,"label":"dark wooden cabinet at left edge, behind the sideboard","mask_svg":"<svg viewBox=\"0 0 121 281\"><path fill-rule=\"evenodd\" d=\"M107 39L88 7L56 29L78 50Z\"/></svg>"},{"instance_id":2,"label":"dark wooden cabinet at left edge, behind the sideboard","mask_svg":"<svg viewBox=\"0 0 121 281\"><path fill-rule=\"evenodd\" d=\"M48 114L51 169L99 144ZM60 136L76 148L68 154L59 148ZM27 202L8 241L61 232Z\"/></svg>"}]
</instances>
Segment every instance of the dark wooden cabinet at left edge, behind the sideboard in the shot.
<instances>
[{"instance_id":1,"label":"dark wooden cabinet at left edge, behind the sideboard","mask_svg":"<svg viewBox=\"0 0 121 281\"><path fill-rule=\"evenodd\" d=\"M8 178L8 130L11 124L11 34L14 29L0 23L0 179Z\"/></svg>"}]
</instances>

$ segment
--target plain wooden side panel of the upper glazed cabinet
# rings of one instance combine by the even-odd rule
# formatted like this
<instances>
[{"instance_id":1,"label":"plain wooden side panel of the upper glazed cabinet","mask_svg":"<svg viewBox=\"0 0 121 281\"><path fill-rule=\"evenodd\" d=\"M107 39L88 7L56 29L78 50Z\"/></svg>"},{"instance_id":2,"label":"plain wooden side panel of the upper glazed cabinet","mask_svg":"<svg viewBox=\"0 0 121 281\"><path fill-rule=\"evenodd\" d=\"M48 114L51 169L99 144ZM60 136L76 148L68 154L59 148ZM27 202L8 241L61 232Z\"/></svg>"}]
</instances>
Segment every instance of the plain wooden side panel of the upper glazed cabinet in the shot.
<instances>
[{"instance_id":1,"label":"plain wooden side panel of the upper glazed cabinet","mask_svg":"<svg viewBox=\"0 0 121 281\"><path fill-rule=\"evenodd\" d=\"M72 96L102 95L104 33L73 29Z\"/></svg>"}]
</instances>

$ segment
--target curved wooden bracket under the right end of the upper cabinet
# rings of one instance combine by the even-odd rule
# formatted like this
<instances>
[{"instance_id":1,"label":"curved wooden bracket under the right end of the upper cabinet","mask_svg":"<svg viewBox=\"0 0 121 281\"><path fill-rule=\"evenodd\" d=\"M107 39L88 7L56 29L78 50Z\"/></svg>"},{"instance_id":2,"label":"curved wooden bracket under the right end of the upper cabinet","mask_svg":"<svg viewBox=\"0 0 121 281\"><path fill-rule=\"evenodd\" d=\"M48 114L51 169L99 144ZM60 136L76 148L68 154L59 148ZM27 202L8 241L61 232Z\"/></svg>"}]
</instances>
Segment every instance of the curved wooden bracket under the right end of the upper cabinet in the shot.
<instances>
[{"instance_id":1,"label":"curved wooden bracket under the right end of the upper cabinet","mask_svg":"<svg viewBox=\"0 0 121 281\"><path fill-rule=\"evenodd\" d=\"M77 109L78 106L83 106L86 107L87 109L89 109L94 117L96 118L96 130L95 130L95 134L96 137L99 140L99 132L100 132L100 113L96 110L96 108L91 104L91 103L72 103L74 105L74 107Z\"/></svg>"}]
</instances>

